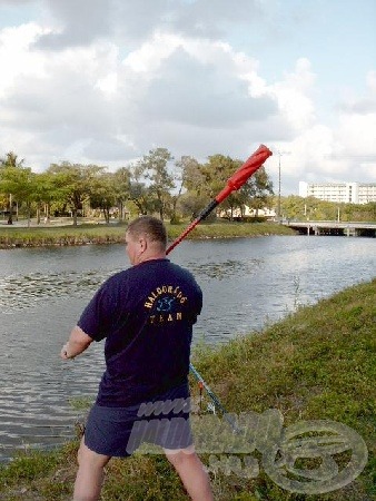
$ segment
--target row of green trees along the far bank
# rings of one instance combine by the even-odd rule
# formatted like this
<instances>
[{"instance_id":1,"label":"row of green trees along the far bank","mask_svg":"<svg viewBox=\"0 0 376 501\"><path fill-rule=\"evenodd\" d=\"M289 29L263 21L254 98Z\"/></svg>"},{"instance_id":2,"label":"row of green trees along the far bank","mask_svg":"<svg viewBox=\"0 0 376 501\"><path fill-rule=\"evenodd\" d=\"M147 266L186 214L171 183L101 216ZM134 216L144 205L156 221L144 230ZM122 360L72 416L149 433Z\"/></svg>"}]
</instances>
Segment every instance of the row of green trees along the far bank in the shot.
<instances>
[{"instance_id":1,"label":"row of green trees along the far bank","mask_svg":"<svg viewBox=\"0 0 376 501\"><path fill-rule=\"evenodd\" d=\"M0 158L0 207L8 224L22 215L31 220L49 220L69 214L77 225L79 216L95 213L109 223L111 214L121 222L127 210L158 214L178 223L196 215L224 188L243 165L229 156L212 155L200 164L194 157L175 159L167 148L156 148L138 161L111 173L106 166L61 161L43 173L24 166L24 159L10 151ZM273 204L273 183L264 166L221 205L229 218L256 212Z\"/></svg>"}]
</instances>

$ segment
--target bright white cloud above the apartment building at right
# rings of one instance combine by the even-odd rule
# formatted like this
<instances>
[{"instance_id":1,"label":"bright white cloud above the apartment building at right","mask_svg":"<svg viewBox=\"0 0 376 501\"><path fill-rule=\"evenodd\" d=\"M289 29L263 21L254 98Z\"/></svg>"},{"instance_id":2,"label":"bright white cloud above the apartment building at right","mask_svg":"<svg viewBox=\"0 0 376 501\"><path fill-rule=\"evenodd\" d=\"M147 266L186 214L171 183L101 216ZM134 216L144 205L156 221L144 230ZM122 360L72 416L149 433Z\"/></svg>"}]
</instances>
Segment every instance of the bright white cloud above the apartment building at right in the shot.
<instances>
[{"instance_id":1,"label":"bright white cloud above the apartment building at right","mask_svg":"<svg viewBox=\"0 0 376 501\"><path fill-rule=\"evenodd\" d=\"M376 183L376 94L375 75L365 77L367 94L340 106L330 125L316 114L315 76L308 61L297 61L297 71L273 86L281 115L294 126L294 138L277 141L275 153L281 156L285 193L297 191L297 181L373 181ZM279 157L270 161L277 175Z\"/></svg>"}]
</instances>

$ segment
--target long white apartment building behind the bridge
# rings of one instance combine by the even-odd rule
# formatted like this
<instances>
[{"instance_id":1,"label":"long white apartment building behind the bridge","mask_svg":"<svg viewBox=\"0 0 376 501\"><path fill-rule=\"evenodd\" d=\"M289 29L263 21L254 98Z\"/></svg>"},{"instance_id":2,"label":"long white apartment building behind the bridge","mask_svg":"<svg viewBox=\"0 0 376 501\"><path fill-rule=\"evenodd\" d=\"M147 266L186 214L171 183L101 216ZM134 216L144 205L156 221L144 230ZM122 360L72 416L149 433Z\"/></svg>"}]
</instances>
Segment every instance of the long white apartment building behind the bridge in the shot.
<instances>
[{"instance_id":1,"label":"long white apartment building behind the bridge","mask_svg":"<svg viewBox=\"0 0 376 501\"><path fill-rule=\"evenodd\" d=\"M367 204L376 202L376 183L305 183L299 181L299 197L320 200Z\"/></svg>"}]
</instances>

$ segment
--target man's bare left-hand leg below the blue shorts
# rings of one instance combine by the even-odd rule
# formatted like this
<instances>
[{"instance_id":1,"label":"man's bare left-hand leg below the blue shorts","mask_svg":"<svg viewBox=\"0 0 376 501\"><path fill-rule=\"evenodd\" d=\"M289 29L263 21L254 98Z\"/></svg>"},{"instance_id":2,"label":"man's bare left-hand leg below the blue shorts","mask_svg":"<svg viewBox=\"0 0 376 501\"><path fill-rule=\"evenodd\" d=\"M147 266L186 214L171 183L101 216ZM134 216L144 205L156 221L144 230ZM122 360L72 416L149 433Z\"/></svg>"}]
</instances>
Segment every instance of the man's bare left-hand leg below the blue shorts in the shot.
<instances>
[{"instance_id":1,"label":"man's bare left-hand leg below the blue shorts","mask_svg":"<svg viewBox=\"0 0 376 501\"><path fill-rule=\"evenodd\" d=\"M97 454L85 445L83 438L78 451L78 472L73 501L98 501L103 482L103 468L111 458Z\"/></svg>"}]
</instances>

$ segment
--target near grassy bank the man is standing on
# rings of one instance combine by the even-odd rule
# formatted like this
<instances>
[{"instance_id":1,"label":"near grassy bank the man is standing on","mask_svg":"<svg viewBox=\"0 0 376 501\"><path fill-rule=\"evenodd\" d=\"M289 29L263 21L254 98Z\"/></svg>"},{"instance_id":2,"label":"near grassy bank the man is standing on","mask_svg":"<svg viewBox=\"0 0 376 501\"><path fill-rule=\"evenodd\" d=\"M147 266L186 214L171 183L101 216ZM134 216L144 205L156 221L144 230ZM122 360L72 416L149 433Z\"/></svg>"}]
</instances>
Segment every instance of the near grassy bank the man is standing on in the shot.
<instances>
[{"instance_id":1,"label":"near grassy bank the man is standing on","mask_svg":"<svg viewBox=\"0 0 376 501\"><path fill-rule=\"evenodd\" d=\"M285 426L304 420L334 420L355 430L369 452L360 475L334 492L309 495L283 490L259 461L256 478L211 474L216 500L375 499L375 337L376 279L303 307L264 332L195 354L196 367L231 412L277 409ZM0 499L69 500L76 449L77 443L71 443L56 453L24 453L2 466ZM260 460L257 453L253 455ZM208 455L202 460L207 464ZM102 499L182 501L187 497L162 456L139 454L109 464Z\"/></svg>"}]
</instances>

